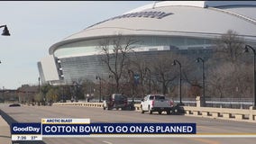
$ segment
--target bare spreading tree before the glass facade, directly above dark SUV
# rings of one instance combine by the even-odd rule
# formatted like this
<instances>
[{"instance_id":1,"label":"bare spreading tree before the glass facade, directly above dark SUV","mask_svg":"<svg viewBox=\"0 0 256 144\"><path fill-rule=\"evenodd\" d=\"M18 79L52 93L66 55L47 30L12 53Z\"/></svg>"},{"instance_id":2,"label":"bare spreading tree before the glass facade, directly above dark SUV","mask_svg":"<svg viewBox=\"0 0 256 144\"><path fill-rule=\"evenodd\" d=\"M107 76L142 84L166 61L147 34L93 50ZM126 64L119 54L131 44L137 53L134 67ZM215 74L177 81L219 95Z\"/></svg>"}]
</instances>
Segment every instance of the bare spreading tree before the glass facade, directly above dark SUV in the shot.
<instances>
[{"instance_id":1,"label":"bare spreading tree before the glass facade, directly above dark SUV","mask_svg":"<svg viewBox=\"0 0 256 144\"><path fill-rule=\"evenodd\" d=\"M114 76L115 91L120 92L120 80L123 75L124 67L128 64L128 53L133 52L138 40L131 37L118 35L114 38L106 38L100 42L101 59L108 67L110 75Z\"/></svg>"}]
</instances>

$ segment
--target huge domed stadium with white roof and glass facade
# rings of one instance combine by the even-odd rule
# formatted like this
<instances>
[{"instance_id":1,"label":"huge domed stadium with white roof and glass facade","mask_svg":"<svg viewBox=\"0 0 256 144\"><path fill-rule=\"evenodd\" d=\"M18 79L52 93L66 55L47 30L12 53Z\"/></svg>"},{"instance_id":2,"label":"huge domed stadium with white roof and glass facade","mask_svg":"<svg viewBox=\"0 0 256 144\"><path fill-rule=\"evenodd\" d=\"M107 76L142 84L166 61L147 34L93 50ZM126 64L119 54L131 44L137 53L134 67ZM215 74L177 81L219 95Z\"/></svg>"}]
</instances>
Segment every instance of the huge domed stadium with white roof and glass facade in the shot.
<instances>
[{"instance_id":1,"label":"huge domed stadium with white roof and glass facade","mask_svg":"<svg viewBox=\"0 0 256 144\"><path fill-rule=\"evenodd\" d=\"M228 30L255 46L255 14L254 1L152 2L54 43L50 55L38 62L41 82L71 85L79 78L95 82L96 76L108 77L97 48L100 41L117 35L140 40L134 50L145 57L173 50L210 55L213 40Z\"/></svg>"}]
</instances>

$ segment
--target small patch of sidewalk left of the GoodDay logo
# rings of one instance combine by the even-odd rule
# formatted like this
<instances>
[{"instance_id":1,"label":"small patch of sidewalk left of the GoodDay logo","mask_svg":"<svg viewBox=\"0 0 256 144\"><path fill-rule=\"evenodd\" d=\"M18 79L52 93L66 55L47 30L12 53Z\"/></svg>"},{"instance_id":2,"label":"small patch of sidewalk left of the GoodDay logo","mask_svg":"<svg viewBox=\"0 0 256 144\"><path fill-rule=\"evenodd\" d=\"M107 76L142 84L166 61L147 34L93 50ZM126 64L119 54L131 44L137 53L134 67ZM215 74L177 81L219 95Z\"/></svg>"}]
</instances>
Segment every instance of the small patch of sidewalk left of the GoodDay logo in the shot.
<instances>
[{"instance_id":1,"label":"small patch of sidewalk left of the GoodDay logo","mask_svg":"<svg viewBox=\"0 0 256 144\"><path fill-rule=\"evenodd\" d=\"M11 132L8 123L0 115L0 143L12 144Z\"/></svg>"}]
</instances>

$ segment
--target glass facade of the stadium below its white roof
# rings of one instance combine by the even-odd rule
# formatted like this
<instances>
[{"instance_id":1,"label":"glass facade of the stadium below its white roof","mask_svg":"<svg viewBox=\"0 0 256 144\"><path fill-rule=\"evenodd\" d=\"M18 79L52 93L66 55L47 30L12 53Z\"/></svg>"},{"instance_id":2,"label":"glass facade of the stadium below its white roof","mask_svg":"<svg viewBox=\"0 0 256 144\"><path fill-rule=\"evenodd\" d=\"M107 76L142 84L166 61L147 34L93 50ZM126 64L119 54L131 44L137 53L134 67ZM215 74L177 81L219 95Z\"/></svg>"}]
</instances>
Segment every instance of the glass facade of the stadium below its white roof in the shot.
<instances>
[{"instance_id":1,"label":"glass facade of the stadium below its white roof","mask_svg":"<svg viewBox=\"0 0 256 144\"><path fill-rule=\"evenodd\" d=\"M198 53L206 53L208 58L209 47L212 40L196 39L188 37L135 37L140 44L135 46L135 53L144 58L145 63L160 57L162 54L176 52L189 57L197 57ZM104 40L104 39L103 39ZM55 56L59 59L59 65L63 73L65 84L72 84L78 79L89 79L96 81L96 76L107 78L109 76L108 67L102 62L98 43L101 40L88 40L74 42L64 45L55 51ZM133 53L130 57L133 57ZM77 57L69 57L72 56ZM81 56L82 54L82 56Z\"/></svg>"}]
</instances>

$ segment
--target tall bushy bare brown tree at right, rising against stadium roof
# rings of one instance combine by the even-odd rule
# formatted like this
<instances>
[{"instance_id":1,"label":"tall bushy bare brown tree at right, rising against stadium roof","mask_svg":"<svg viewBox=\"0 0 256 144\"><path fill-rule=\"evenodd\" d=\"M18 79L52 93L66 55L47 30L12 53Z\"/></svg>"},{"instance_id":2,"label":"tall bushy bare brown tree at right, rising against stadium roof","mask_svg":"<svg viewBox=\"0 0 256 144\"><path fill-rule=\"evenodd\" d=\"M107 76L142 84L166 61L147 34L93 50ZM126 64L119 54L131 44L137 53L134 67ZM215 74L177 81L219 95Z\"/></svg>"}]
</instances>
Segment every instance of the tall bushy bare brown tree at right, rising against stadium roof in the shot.
<instances>
[{"instance_id":1,"label":"tall bushy bare brown tree at right, rising against stadium roof","mask_svg":"<svg viewBox=\"0 0 256 144\"><path fill-rule=\"evenodd\" d=\"M216 40L214 58L208 63L212 67L207 70L207 89L212 96L242 98L251 94L252 69L242 53L244 43L243 38L231 30Z\"/></svg>"}]
</instances>

